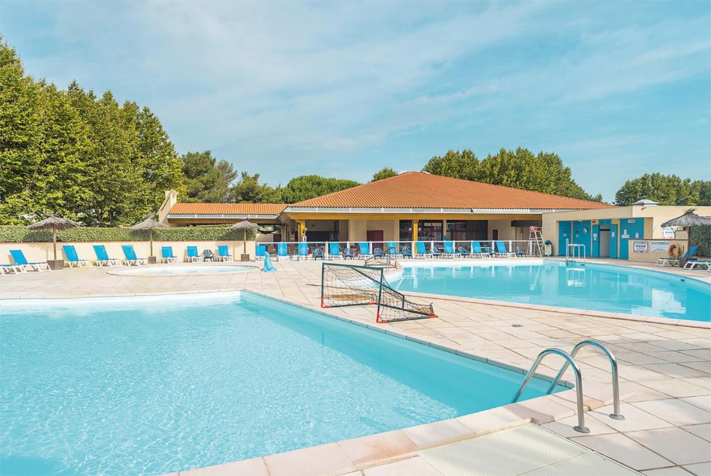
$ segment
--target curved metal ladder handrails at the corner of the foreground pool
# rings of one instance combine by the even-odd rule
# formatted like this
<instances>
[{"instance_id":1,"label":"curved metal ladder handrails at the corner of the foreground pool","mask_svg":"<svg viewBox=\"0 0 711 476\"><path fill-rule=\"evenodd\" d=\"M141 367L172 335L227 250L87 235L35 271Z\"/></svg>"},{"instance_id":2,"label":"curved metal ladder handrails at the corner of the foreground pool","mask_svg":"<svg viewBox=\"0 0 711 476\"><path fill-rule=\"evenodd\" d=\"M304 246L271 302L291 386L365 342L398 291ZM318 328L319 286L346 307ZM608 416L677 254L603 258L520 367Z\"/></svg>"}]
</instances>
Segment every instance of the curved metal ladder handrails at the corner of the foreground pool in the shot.
<instances>
[{"instance_id":1,"label":"curved metal ladder handrails at the corner of the foreground pool","mask_svg":"<svg viewBox=\"0 0 711 476\"><path fill-rule=\"evenodd\" d=\"M518 399L520 399L521 394L523 394L523 390L528 385L528 382L530 382L530 379L533 378L533 374L535 374L536 369L538 369L538 366L545 358L545 356L550 354L560 355L560 357L563 357L563 359L565 359L565 364L563 364L563 367L557 373L555 379L553 379L553 381L551 382L550 387L548 387L546 391L546 394L550 394L550 392L555 389L555 386L560 380L560 377L562 377L562 374L565 373L568 366L570 365L573 368L573 372L575 375L575 394L577 400L576 413L578 418L578 424L574 426L573 429L575 431L579 431L580 433L590 433L590 430L587 428L587 426L585 426L585 411L583 406L582 393L582 372L580 371L580 367L574 359L574 356L577 354L577 352L586 345L592 345L593 347L597 347L599 350L602 350L602 352L604 352L604 354L609 359L612 373L612 403L614 407L614 413L610 413L610 418L614 418L615 420L624 420L624 416L622 416L622 414L620 413L617 360L615 359L615 356L612 354L612 352L602 342L593 339L587 339L578 342L577 345L573 347L573 350L572 352L570 352L570 354L565 352L565 350L560 350L556 347L549 347L543 350L540 354L538 354L538 357L536 357L535 362L533 362L533 365L528 370L528 373L523 379L523 383L519 387L515 396L513 396L513 402L518 401Z\"/></svg>"}]
</instances>

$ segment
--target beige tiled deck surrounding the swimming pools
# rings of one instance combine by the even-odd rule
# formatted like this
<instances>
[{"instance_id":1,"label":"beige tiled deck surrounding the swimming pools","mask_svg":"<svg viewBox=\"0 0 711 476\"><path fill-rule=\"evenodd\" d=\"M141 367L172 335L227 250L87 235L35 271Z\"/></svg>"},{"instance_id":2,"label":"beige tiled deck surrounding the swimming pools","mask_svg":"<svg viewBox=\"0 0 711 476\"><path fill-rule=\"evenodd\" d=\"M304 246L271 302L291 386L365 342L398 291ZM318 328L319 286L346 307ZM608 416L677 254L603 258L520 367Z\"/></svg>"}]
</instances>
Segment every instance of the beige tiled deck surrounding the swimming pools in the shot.
<instances>
[{"instance_id":1,"label":"beige tiled deck surrounding the swimming pools","mask_svg":"<svg viewBox=\"0 0 711 476\"><path fill-rule=\"evenodd\" d=\"M111 269L95 267L0 276L0 299L246 289L321 310L318 307L321 263L282 261L274 265L279 269L275 273L249 271L210 276L117 276L107 273ZM711 283L711 274L705 271L634 266ZM535 461L528 460L533 463L527 467L516 466L517 459L510 458L511 464L501 465L495 474L585 475L590 473L581 472L584 467L602 470L608 464L616 465L615 469L597 474L639 474L636 471L648 476L711 474L711 329L698 327L694 321L665 322L646 316L629 319L611 313L593 315L587 310L532 308L449 296L433 296L427 301L432 301L439 318L377 325L372 308L324 311L516 369L528 369L545 347L570 350L585 338L600 340L619 361L621 394L626 396L621 413L626 420L615 421L607 416L611 413L611 406L605 405L611 391L609 362L586 348L579 352L577 361L584 375L586 408L591 409L586 416L590 428L587 435L572 430L576 420L570 398L547 396L528 401L535 403L521 402L421 427L180 474L493 474L487 473L486 467L475 472L474 460L463 455L479 455L476 461L486 462L487 457L493 458L492 445L510 448L509 453L514 454L520 451L522 442L533 445L540 438L555 435L565 438L558 438L560 443L552 439L546 447L560 450L554 452L555 458L539 451L531 457ZM544 361L541 370L552 375L559 366L560 362L551 357ZM572 381L570 370L564 378ZM512 427L515 428L497 431ZM530 427L534 429L525 429ZM545 431L547 436L535 433L538 431ZM567 446L568 443L575 443L574 448L579 451ZM501 461L501 455L496 458Z\"/></svg>"}]
</instances>

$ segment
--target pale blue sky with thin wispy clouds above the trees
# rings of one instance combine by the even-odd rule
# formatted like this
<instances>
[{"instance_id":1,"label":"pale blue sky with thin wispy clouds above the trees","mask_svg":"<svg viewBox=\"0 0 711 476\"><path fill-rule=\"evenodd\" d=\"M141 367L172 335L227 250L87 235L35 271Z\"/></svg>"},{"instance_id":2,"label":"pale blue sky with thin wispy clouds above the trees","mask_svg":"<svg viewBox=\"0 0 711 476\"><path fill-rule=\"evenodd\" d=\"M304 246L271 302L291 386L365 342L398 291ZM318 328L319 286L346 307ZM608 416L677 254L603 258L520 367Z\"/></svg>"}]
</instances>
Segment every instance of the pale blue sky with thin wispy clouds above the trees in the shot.
<instances>
[{"instance_id":1,"label":"pale blue sky with thin wispy clouds above the trees","mask_svg":"<svg viewBox=\"0 0 711 476\"><path fill-rule=\"evenodd\" d=\"M150 107L276 185L449 148L554 151L590 193L711 178L710 2L0 3L26 70Z\"/></svg>"}]
</instances>

